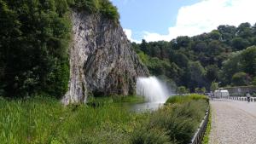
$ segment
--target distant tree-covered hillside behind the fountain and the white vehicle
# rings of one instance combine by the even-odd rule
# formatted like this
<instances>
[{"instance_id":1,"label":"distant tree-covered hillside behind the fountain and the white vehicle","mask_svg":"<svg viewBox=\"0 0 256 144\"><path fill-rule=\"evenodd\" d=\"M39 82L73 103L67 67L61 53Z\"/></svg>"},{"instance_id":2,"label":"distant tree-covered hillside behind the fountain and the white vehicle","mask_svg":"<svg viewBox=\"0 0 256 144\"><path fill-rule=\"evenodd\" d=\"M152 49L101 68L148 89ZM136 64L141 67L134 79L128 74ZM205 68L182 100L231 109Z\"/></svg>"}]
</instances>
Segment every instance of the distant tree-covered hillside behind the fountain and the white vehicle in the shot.
<instances>
[{"instance_id":1,"label":"distant tree-covered hillside behind the fountain and the white vehicle","mask_svg":"<svg viewBox=\"0 0 256 144\"><path fill-rule=\"evenodd\" d=\"M196 88L210 89L212 82L220 86L237 85L236 77L245 76L236 72L245 72L247 77L238 85L253 84L255 47L248 47L255 44L256 24L242 23L237 27L218 26L212 32L177 37L171 42L147 43L143 40L140 44L133 43L133 47L152 75L164 75L172 85L195 91Z\"/></svg>"}]
</instances>

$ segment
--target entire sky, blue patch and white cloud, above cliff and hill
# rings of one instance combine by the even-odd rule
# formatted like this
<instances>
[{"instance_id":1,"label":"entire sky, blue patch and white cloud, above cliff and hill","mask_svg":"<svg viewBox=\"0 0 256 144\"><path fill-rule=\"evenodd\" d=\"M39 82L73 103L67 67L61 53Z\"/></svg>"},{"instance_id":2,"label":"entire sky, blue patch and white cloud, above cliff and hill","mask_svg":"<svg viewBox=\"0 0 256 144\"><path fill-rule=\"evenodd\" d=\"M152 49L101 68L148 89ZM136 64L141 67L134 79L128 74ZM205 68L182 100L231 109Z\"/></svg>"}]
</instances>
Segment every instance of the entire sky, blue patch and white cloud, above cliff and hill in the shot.
<instances>
[{"instance_id":1,"label":"entire sky, blue patch and white cloud, above cliff and hill","mask_svg":"<svg viewBox=\"0 0 256 144\"><path fill-rule=\"evenodd\" d=\"M255 23L255 0L111 0L127 37L139 43L211 32L219 25Z\"/></svg>"}]
</instances>

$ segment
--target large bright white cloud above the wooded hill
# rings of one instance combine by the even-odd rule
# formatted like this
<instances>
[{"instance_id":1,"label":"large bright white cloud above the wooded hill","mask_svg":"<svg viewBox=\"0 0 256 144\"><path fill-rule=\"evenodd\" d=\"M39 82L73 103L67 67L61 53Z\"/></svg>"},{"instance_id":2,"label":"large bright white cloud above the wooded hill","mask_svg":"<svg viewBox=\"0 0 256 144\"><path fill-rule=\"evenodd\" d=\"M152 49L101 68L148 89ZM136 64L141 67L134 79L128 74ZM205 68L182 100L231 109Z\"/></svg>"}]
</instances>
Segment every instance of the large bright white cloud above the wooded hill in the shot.
<instances>
[{"instance_id":1,"label":"large bright white cloud above the wooded hill","mask_svg":"<svg viewBox=\"0 0 256 144\"><path fill-rule=\"evenodd\" d=\"M177 36L195 36L211 32L219 25L238 26L242 22L256 22L255 0L202 0L178 10L176 25L167 35L144 32L146 41L170 41Z\"/></svg>"}]
</instances>

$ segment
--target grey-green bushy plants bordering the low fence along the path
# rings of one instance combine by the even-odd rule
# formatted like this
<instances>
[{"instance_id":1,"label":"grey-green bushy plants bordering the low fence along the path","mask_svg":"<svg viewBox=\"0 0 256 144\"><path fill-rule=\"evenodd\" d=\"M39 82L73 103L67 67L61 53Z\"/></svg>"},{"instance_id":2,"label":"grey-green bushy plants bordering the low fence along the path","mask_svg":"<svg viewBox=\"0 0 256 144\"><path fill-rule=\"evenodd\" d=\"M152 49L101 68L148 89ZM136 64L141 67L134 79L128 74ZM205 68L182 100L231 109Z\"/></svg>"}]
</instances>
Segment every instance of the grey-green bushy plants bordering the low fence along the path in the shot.
<instances>
[{"instance_id":1,"label":"grey-green bushy plants bordering the low fence along the path","mask_svg":"<svg viewBox=\"0 0 256 144\"><path fill-rule=\"evenodd\" d=\"M134 131L131 143L189 143L207 111L207 101L205 95L169 98L165 107Z\"/></svg>"}]
</instances>

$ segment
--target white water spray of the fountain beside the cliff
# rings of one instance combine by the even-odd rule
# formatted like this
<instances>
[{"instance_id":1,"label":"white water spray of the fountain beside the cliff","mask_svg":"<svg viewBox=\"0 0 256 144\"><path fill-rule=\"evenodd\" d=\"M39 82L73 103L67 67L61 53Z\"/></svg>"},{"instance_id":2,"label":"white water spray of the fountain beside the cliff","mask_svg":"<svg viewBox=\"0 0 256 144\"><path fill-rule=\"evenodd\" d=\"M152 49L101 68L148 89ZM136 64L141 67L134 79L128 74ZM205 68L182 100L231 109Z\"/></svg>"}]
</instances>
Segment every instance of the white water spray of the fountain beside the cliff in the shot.
<instances>
[{"instance_id":1,"label":"white water spray of the fountain beside the cliff","mask_svg":"<svg viewBox=\"0 0 256 144\"><path fill-rule=\"evenodd\" d=\"M171 93L166 85L156 77L137 78L137 95L143 95L147 101L164 103Z\"/></svg>"}]
</instances>

